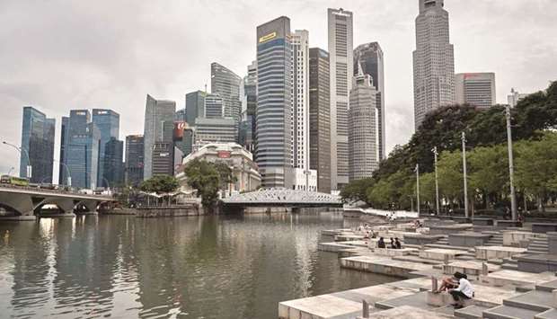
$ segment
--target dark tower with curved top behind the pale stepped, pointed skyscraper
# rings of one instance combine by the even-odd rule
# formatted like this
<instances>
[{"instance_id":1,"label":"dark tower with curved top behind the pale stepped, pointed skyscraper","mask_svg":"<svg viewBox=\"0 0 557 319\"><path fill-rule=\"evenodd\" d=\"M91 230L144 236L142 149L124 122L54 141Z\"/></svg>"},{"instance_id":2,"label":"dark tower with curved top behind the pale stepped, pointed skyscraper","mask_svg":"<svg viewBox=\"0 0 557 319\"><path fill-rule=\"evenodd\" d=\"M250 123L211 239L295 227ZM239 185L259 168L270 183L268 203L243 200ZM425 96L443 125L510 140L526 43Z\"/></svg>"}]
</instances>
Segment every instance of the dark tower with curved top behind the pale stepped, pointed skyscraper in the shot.
<instances>
[{"instance_id":1,"label":"dark tower with curved top behind the pale stepped, pointed skyscraper","mask_svg":"<svg viewBox=\"0 0 557 319\"><path fill-rule=\"evenodd\" d=\"M383 50L379 43L371 42L359 45L354 49L354 76L358 75L358 67L364 75L371 75L371 82L377 91L377 142L379 161L385 159L385 72Z\"/></svg>"}]
</instances>

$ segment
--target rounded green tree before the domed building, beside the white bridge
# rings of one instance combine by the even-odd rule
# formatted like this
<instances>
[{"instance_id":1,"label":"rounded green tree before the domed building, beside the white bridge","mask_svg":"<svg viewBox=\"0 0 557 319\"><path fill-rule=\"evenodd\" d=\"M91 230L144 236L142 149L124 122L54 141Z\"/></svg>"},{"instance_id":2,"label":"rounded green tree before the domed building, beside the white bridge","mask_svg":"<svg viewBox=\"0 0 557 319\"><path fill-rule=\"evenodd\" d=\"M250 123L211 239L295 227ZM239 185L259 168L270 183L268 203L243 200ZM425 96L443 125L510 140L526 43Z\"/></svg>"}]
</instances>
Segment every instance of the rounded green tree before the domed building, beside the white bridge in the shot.
<instances>
[{"instance_id":1,"label":"rounded green tree before the domed building, beside the white bridge","mask_svg":"<svg viewBox=\"0 0 557 319\"><path fill-rule=\"evenodd\" d=\"M218 199L218 190L221 185L220 175L215 164L195 159L184 168L188 185L198 190L201 203L207 208L212 208Z\"/></svg>"}]
</instances>

